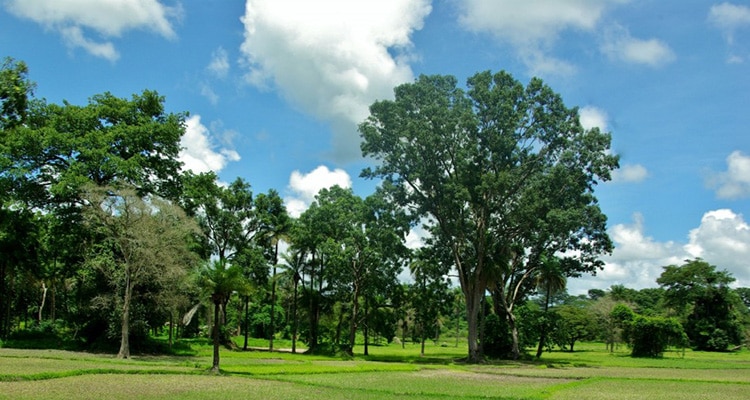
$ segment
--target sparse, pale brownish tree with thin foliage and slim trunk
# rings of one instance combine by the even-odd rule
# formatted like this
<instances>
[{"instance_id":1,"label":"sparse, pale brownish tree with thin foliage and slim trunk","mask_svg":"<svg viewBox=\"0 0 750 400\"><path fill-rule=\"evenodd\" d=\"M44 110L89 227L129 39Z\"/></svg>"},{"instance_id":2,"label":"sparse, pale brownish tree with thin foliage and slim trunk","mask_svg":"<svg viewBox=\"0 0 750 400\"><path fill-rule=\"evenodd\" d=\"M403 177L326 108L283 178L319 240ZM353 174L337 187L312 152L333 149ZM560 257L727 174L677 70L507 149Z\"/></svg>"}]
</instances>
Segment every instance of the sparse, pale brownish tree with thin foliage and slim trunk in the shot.
<instances>
[{"instance_id":1,"label":"sparse, pale brownish tree with thin foliage and slim trunk","mask_svg":"<svg viewBox=\"0 0 750 400\"><path fill-rule=\"evenodd\" d=\"M188 239L197 231L177 206L133 189L90 186L86 216L98 233L89 263L119 292L121 335L118 358L130 357L130 310L134 290L146 283L165 288L187 276L193 254Z\"/></svg>"}]
</instances>

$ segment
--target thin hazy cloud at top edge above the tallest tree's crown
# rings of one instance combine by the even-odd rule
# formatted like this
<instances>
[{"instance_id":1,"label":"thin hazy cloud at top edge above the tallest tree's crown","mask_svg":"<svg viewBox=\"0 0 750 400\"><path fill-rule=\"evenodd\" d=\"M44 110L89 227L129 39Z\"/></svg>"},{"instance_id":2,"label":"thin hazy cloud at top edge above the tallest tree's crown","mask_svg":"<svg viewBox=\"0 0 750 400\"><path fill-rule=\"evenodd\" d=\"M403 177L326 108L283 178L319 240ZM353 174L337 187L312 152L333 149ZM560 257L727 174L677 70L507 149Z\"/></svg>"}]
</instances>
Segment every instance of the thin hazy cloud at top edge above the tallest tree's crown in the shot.
<instances>
[{"instance_id":1,"label":"thin hazy cloud at top edge above the tallest tree's crown","mask_svg":"<svg viewBox=\"0 0 750 400\"><path fill-rule=\"evenodd\" d=\"M462 0L459 22L511 44L534 74L570 74L575 67L550 56L561 32L593 31L604 12L627 0Z\"/></svg>"}]
</instances>

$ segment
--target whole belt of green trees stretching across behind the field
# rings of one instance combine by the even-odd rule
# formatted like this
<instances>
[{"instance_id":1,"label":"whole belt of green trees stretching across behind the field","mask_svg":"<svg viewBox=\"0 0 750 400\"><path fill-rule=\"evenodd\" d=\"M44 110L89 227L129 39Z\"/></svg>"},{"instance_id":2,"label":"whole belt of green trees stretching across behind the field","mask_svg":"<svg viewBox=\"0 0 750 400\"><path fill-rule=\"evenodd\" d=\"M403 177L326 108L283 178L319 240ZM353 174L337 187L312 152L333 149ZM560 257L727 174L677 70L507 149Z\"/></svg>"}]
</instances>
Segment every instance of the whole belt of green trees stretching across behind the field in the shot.
<instances>
[{"instance_id":1,"label":"whole belt of green trees stretching across behind the field","mask_svg":"<svg viewBox=\"0 0 750 400\"><path fill-rule=\"evenodd\" d=\"M156 91L85 105L34 91L26 64L5 59L0 347L129 358L206 338L218 371L220 348L249 338L348 355L460 343L470 363L593 340L643 357L748 342L750 288L702 259L664 266L658 287L568 295L613 250L594 191L618 158L539 79L396 87L359 126L377 190L323 189L299 218L276 190L183 170L187 112ZM417 249L414 227L427 232Z\"/></svg>"}]
</instances>

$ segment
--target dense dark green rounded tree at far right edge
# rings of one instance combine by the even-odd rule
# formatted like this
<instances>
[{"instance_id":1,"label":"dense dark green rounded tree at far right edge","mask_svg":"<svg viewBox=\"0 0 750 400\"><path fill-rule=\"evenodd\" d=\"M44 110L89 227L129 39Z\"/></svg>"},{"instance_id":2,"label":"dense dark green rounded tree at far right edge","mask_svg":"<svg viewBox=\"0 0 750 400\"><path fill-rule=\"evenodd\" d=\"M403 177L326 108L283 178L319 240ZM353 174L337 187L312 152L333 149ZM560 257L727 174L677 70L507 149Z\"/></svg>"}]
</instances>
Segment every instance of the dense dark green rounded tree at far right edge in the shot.
<instances>
[{"instance_id":1,"label":"dense dark green rounded tree at far right edge","mask_svg":"<svg viewBox=\"0 0 750 400\"><path fill-rule=\"evenodd\" d=\"M669 265L657 279L668 306L684 318L691 345L698 350L724 351L740 344L743 329L729 284L734 277L701 259Z\"/></svg>"}]
</instances>

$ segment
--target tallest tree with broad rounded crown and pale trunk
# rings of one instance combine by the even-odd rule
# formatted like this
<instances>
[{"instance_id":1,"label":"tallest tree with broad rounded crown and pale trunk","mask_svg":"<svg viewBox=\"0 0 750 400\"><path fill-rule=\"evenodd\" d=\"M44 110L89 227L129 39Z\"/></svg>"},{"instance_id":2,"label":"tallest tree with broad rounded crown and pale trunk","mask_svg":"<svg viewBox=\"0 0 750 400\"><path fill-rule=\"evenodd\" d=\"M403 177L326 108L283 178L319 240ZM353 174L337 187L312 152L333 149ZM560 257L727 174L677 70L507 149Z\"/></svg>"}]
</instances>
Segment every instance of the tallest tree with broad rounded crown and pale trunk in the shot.
<instances>
[{"instance_id":1,"label":"tallest tree with broad rounded crown and pale trunk","mask_svg":"<svg viewBox=\"0 0 750 400\"><path fill-rule=\"evenodd\" d=\"M396 87L395 100L375 102L360 132L363 155L378 162L362 175L384 179L450 249L466 298L468 358L476 362L489 282L505 276L496 286L516 291L513 283L531 280L543 252L590 250L577 269L595 270L595 254L611 244L592 191L617 157L608 153L610 136L584 130L577 109L539 79L524 87L505 72L483 72L468 87L451 76L421 76ZM560 199L565 207L556 212ZM576 216L585 219L575 224ZM565 225L554 226L556 219Z\"/></svg>"}]
</instances>

